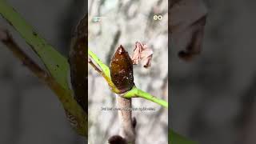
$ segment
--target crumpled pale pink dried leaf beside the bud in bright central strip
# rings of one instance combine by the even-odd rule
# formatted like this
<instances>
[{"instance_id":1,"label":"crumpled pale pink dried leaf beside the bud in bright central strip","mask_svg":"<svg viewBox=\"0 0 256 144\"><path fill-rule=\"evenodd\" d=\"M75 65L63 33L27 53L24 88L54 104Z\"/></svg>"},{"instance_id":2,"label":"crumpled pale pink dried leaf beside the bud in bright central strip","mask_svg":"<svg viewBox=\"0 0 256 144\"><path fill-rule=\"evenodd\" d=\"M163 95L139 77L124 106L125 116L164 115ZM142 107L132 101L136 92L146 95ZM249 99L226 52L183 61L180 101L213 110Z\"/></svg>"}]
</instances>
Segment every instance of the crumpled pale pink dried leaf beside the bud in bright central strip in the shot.
<instances>
[{"instance_id":1,"label":"crumpled pale pink dried leaf beside the bud in bright central strip","mask_svg":"<svg viewBox=\"0 0 256 144\"><path fill-rule=\"evenodd\" d=\"M134 65L138 65L141 62L142 66L148 68L151 66L152 57L153 50L148 48L146 44L141 44L140 42L135 43L134 54L131 58Z\"/></svg>"}]
</instances>

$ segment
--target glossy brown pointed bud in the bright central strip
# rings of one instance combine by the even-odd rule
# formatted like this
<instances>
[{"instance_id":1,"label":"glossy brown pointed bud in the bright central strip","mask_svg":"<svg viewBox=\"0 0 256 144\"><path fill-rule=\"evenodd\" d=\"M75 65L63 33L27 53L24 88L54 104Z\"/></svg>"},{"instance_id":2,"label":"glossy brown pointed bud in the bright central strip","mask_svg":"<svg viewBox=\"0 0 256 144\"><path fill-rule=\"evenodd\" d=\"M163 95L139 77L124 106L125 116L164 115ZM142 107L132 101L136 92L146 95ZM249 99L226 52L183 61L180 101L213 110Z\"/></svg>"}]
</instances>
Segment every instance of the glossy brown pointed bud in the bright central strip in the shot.
<instances>
[{"instance_id":1,"label":"glossy brown pointed bud in the bright central strip","mask_svg":"<svg viewBox=\"0 0 256 144\"><path fill-rule=\"evenodd\" d=\"M118 47L111 59L110 77L121 93L134 86L133 62L122 45Z\"/></svg>"}]
</instances>

